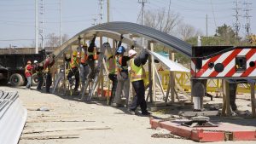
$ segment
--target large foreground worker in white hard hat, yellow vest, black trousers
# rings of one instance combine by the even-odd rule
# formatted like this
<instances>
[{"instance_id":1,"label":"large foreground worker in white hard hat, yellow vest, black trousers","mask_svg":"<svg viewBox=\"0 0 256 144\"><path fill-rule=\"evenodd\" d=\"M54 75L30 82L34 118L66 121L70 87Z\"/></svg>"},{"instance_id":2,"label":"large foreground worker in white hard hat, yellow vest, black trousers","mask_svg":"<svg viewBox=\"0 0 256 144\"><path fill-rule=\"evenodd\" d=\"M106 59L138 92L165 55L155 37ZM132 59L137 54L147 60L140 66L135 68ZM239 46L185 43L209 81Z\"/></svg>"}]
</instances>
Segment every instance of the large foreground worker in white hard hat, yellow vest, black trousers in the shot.
<instances>
[{"instance_id":1,"label":"large foreground worker in white hard hat, yellow vest, black trousers","mask_svg":"<svg viewBox=\"0 0 256 144\"><path fill-rule=\"evenodd\" d=\"M135 114L135 110L138 106L141 107L143 115L149 115L150 112L147 111L147 102L145 101L145 86L144 78L146 78L146 73L143 65L146 64L148 59L148 53L143 49L140 55L135 57L137 52L133 49L129 50L129 56L131 57L131 84L135 90L136 95L133 97L128 112Z\"/></svg>"}]
</instances>

